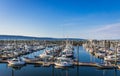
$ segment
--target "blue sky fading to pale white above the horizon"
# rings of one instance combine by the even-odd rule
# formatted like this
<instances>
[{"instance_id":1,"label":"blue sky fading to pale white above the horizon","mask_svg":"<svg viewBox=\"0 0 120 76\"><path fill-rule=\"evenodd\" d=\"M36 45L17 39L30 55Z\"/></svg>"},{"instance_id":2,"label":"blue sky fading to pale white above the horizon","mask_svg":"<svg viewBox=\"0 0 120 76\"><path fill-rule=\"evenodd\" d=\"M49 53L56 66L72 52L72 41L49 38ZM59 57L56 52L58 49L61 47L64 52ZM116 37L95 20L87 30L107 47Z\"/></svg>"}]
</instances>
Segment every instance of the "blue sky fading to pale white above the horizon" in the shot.
<instances>
[{"instance_id":1,"label":"blue sky fading to pale white above the horizon","mask_svg":"<svg viewBox=\"0 0 120 76\"><path fill-rule=\"evenodd\" d=\"M0 34L120 38L119 0L0 0Z\"/></svg>"}]
</instances>

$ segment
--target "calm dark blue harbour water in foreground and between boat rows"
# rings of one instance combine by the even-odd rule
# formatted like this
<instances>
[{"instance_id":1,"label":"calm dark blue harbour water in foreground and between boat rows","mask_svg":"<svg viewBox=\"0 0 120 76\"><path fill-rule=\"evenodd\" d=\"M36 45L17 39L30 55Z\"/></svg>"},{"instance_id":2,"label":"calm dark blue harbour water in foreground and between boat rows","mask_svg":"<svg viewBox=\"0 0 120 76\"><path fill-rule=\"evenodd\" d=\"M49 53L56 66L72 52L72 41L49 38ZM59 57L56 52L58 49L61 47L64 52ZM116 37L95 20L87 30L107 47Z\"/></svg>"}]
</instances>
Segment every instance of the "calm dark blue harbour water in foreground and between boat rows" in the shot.
<instances>
[{"instance_id":1,"label":"calm dark blue harbour water in foreground and between boat rows","mask_svg":"<svg viewBox=\"0 0 120 76\"><path fill-rule=\"evenodd\" d=\"M28 55L34 57L42 51ZM77 47L75 47L75 57L77 57ZM79 47L79 60L82 62L98 62L102 60L94 58L82 47ZM41 65L26 65L21 68L11 68L7 64L0 64L0 76L120 76L120 70L100 70L95 67L73 66L70 68L57 69L54 66L43 67Z\"/></svg>"}]
</instances>

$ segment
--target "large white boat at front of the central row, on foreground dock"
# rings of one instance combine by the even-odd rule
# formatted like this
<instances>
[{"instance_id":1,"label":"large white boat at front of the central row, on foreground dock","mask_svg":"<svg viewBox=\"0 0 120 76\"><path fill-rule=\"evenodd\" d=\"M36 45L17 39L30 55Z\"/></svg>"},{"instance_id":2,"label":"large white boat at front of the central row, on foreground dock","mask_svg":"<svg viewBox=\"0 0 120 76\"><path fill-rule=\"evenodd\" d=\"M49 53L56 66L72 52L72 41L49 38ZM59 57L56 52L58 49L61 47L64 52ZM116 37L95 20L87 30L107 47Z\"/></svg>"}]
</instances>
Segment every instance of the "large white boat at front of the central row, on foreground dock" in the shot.
<instances>
[{"instance_id":1,"label":"large white boat at front of the central row, on foreground dock","mask_svg":"<svg viewBox=\"0 0 120 76\"><path fill-rule=\"evenodd\" d=\"M55 65L62 66L62 67L72 66L73 60L70 58L59 57L59 58L57 58Z\"/></svg>"}]
</instances>

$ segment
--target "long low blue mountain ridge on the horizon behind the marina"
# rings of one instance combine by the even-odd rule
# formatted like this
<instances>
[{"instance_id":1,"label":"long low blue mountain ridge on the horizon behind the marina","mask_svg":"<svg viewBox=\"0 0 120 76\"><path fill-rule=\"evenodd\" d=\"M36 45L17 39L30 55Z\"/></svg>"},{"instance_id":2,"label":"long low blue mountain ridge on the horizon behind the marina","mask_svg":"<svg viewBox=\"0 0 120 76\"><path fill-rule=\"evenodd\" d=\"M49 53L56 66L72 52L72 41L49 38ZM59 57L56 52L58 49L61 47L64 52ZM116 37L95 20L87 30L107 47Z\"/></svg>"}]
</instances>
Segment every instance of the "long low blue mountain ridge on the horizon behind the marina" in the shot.
<instances>
[{"instance_id":1,"label":"long low blue mountain ridge on the horizon behind the marina","mask_svg":"<svg viewBox=\"0 0 120 76\"><path fill-rule=\"evenodd\" d=\"M17 35L0 35L0 40L84 40L79 38L49 38L49 37L29 37Z\"/></svg>"}]
</instances>

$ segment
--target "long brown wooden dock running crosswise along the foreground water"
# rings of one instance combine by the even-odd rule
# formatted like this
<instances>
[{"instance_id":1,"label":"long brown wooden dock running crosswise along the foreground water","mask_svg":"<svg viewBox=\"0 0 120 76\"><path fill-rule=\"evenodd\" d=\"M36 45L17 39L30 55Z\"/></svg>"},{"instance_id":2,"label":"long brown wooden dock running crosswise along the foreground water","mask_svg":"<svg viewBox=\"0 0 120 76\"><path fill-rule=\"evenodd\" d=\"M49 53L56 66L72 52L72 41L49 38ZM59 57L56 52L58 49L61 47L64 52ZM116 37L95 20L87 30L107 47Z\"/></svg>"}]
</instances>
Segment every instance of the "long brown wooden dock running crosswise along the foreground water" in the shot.
<instances>
[{"instance_id":1,"label":"long brown wooden dock running crosswise along the foreground water","mask_svg":"<svg viewBox=\"0 0 120 76\"><path fill-rule=\"evenodd\" d=\"M30 59L30 60L26 60L25 61L26 64L41 64L45 67L48 67L50 65L54 65L53 61L49 61L49 62L45 62L45 61L41 61L41 60L34 60L34 59ZM8 63L8 60L0 60L0 63ZM97 67L100 69L114 69L117 68L117 66L115 65L101 65L101 64L97 64L97 63L93 63L93 62L73 62L73 64L75 66L89 66L89 67Z\"/></svg>"}]
</instances>

